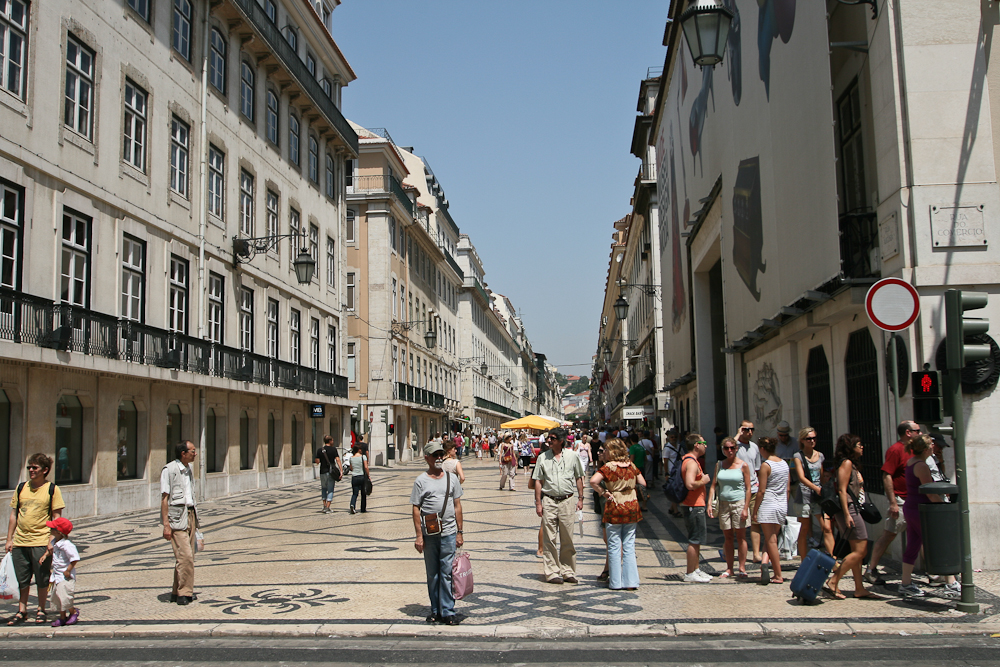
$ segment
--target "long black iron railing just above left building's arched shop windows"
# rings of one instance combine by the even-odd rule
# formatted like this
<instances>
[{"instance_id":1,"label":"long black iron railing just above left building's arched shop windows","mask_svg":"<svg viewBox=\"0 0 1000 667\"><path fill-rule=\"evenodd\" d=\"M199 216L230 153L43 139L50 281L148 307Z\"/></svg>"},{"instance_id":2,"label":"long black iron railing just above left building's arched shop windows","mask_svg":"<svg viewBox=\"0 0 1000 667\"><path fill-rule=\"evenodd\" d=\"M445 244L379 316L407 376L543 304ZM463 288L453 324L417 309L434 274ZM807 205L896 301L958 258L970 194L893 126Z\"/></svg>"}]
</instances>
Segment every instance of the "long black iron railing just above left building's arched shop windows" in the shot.
<instances>
[{"instance_id":1,"label":"long black iron railing just above left building's arched shop windows","mask_svg":"<svg viewBox=\"0 0 1000 667\"><path fill-rule=\"evenodd\" d=\"M0 340L347 398L340 375L10 289L0 289Z\"/></svg>"}]
</instances>

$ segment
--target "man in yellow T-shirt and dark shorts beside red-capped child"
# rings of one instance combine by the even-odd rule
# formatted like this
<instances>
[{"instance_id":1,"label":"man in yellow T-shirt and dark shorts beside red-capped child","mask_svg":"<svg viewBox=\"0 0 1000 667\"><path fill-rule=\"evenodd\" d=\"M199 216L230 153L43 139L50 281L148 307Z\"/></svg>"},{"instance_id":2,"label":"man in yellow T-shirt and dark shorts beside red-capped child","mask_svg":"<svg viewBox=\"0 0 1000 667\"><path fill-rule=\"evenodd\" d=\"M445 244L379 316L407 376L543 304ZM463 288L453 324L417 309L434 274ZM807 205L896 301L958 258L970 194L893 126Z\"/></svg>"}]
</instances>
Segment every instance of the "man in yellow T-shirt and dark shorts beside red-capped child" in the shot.
<instances>
[{"instance_id":1,"label":"man in yellow T-shirt and dark shorts beside red-capped child","mask_svg":"<svg viewBox=\"0 0 1000 667\"><path fill-rule=\"evenodd\" d=\"M46 481L52 459L45 454L32 454L28 459L28 481L21 483L10 499L10 522L7 525L5 550L11 554L20 598L17 613L7 625L20 625L28 618L28 593L34 577L38 591L38 612L35 623L45 623L45 602L49 594L49 568L52 558L45 558L49 546L46 521L62 516L63 502L59 487Z\"/></svg>"}]
</instances>

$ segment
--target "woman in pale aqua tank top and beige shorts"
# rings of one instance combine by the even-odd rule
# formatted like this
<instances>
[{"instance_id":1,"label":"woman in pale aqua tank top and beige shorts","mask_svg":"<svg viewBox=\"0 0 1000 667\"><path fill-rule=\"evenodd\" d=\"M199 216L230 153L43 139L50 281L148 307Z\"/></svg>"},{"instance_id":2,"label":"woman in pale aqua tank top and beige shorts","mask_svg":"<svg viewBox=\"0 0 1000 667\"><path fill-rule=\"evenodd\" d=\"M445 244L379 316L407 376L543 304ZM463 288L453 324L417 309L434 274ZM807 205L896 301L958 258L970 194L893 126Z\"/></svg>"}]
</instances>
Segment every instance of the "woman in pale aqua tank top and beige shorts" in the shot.
<instances>
[{"instance_id":1,"label":"woman in pale aqua tank top and beige shorts","mask_svg":"<svg viewBox=\"0 0 1000 667\"><path fill-rule=\"evenodd\" d=\"M734 438L722 441L724 460L715 464L715 475L708 490L708 516L719 518L725 536L726 571L720 579L733 576L733 542L739 554L738 577L747 576L747 519L750 515L750 466L736 456L740 446ZM715 501L718 500L718 511Z\"/></svg>"}]
</instances>

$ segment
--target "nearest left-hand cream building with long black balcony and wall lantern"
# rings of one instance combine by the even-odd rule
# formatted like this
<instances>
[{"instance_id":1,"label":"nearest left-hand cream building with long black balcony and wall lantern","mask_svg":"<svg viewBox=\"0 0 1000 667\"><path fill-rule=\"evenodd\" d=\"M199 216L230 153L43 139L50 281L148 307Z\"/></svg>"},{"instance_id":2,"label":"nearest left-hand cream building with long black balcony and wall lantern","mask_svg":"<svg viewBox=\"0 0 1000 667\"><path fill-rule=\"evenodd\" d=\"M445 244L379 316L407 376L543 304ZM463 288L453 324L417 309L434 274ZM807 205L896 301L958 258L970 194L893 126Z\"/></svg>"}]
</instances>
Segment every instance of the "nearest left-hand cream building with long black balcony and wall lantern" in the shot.
<instances>
[{"instance_id":1,"label":"nearest left-hand cream building with long black balcony and wall lantern","mask_svg":"<svg viewBox=\"0 0 1000 667\"><path fill-rule=\"evenodd\" d=\"M69 516L114 513L182 439L202 497L349 442L335 4L0 7L0 488L43 452Z\"/></svg>"}]
</instances>

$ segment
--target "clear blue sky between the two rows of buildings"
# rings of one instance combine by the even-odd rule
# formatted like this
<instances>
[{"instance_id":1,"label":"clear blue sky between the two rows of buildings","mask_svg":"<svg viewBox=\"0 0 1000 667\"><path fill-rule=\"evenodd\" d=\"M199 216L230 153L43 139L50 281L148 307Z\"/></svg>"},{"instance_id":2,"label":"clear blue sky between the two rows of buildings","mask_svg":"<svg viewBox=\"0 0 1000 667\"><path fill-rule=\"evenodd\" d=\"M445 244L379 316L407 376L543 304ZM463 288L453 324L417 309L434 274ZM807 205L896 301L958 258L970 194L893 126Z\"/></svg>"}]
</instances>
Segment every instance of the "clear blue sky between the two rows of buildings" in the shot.
<instances>
[{"instance_id":1,"label":"clear blue sky between the two rows of buildings","mask_svg":"<svg viewBox=\"0 0 1000 667\"><path fill-rule=\"evenodd\" d=\"M427 159L535 352L589 372L639 82L669 2L344 0L344 115ZM580 364L574 366L573 364Z\"/></svg>"}]
</instances>

